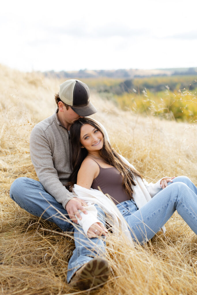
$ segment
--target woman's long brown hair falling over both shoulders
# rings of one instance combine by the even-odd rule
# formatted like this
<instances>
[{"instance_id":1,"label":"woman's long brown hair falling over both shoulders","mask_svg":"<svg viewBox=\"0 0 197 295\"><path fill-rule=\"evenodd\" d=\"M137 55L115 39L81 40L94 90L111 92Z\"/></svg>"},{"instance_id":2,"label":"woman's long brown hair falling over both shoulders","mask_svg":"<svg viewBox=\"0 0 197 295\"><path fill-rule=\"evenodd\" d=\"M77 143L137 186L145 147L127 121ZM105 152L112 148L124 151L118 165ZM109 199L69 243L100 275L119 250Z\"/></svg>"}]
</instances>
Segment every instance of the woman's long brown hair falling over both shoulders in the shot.
<instances>
[{"instance_id":1,"label":"woman's long brown hair falling over both shoulders","mask_svg":"<svg viewBox=\"0 0 197 295\"><path fill-rule=\"evenodd\" d=\"M123 189L126 191L126 194L131 199L133 194L133 186L136 185L136 183L133 181L133 176L139 176L140 178L142 178L141 174L135 169L132 169L125 162L123 162L118 153L111 147L110 143L106 140L101 127L97 124L97 122L90 118L78 119L74 122L70 129L73 172L69 177L69 183L67 184L67 188L71 191L72 186L74 185L74 183L76 183L78 171L81 167L83 160L86 158L88 154L88 151L85 148L81 148L80 143L81 127L84 124L90 124L102 133L103 146L100 150L100 157L103 160L105 160L105 162L109 165L114 166L121 173L123 177Z\"/></svg>"}]
</instances>

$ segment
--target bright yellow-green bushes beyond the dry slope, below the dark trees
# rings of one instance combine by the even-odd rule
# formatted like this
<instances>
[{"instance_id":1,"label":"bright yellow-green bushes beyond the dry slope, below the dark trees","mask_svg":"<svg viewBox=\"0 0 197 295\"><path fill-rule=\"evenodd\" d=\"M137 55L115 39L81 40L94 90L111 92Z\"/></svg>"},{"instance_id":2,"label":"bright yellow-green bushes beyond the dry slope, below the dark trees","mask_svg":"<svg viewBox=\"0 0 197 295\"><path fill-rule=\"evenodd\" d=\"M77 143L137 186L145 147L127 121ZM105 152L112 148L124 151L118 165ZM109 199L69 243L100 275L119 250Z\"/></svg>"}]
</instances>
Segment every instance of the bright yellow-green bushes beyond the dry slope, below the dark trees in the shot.
<instances>
[{"instance_id":1,"label":"bright yellow-green bushes beyond the dry slope, below the dark trees","mask_svg":"<svg viewBox=\"0 0 197 295\"><path fill-rule=\"evenodd\" d=\"M143 94L124 93L116 95L115 99L122 109L197 122L197 96L187 90L174 93L168 89L157 93L144 90Z\"/></svg>"}]
</instances>

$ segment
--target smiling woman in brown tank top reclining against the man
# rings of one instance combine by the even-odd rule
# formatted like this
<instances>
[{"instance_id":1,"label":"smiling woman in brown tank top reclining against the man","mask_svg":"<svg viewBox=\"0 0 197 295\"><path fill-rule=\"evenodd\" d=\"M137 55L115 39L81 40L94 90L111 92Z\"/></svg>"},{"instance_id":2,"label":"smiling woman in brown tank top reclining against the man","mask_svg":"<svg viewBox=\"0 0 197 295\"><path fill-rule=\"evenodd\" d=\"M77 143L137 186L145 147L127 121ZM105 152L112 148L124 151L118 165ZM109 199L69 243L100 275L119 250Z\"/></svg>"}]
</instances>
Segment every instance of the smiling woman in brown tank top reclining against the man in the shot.
<instances>
[{"instance_id":1,"label":"smiling woman in brown tank top reclining against the man","mask_svg":"<svg viewBox=\"0 0 197 295\"><path fill-rule=\"evenodd\" d=\"M197 234L197 188L189 178L164 177L156 184L148 184L126 159L111 148L100 126L90 118L79 119L72 125L71 146L73 173L69 189L79 198L93 200L113 218L118 219L121 213L132 240L143 243L151 239L175 210ZM99 189L110 195L113 201ZM95 219L97 210L91 205L89 218L83 212L80 214L85 219L84 232L94 240L99 235L107 235L107 230L104 218ZM82 225L79 219L78 222ZM125 224L122 228L125 229ZM79 237L75 236L76 252L80 253L77 239ZM69 264L73 268L78 262L72 257Z\"/></svg>"}]
</instances>

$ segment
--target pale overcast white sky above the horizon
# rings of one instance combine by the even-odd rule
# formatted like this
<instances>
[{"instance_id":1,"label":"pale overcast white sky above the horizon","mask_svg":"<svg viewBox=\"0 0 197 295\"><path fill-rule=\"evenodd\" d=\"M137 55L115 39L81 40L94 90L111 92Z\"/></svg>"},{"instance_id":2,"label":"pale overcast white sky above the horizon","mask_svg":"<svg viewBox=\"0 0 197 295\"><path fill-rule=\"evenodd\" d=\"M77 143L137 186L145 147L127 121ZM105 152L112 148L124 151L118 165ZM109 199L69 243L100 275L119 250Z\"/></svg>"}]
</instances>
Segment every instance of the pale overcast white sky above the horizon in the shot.
<instances>
[{"instance_id":1,"label":"pale overcast white sky above the horizon","mask_svg":"<svg viewBox=\"0 0 197 295\"><path fill-rule=\"evenodd\" d=\"M196 0L6 0L0 63L20 71L197 66Z\"/></svg>"}]
</instances>

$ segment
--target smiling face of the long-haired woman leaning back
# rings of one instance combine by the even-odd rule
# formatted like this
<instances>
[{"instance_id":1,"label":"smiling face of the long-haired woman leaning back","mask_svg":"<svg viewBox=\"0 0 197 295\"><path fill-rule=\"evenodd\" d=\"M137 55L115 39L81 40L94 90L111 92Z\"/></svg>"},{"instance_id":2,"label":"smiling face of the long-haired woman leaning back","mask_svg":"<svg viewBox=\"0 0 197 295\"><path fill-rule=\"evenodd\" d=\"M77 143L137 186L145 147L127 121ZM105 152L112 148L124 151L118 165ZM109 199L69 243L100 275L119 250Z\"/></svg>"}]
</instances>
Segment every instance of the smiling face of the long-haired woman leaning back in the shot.
<instances>
[{"instance_id":1,"label":"smiling face of the long-haired woman leaning back","mask_svg":"<svg viewBox=\"0 0 197 295\"><path fill-rule=\"evenodd\" d=\"M100 150L103 146L102 133L90 124L84 124L80 134L81 146L88 152Z\"/></svg>"}]
</instances>

